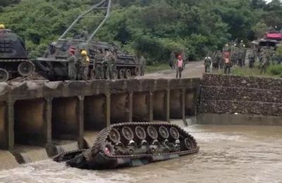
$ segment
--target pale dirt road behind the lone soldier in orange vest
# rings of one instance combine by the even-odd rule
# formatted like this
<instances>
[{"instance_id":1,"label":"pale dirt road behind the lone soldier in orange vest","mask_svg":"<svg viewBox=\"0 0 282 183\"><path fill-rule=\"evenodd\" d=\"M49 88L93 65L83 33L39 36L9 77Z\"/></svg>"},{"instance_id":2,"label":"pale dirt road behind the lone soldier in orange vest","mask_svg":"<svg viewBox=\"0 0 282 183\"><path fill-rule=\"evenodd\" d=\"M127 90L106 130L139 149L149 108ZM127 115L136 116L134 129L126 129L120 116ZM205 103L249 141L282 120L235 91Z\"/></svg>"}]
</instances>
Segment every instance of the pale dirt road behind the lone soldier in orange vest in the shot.
<instances>
[{"instance_id":1,"label":"pale dirt road behind the lone soldier in orange vest","mask_svg":"<svg viewBox=\"0 0 282 183\"><path fill-rule=\"evenodd\" d=\"M204 62L190 62L185 65L185 69L182 72L183 78L190 78L190 77L202 77L204 73ZM146 74L142 77L137 77L138 79L150 79L150 78L176 78L176 70L162 70L159 72L153 72Z\"/></svg>"}]
</instances>

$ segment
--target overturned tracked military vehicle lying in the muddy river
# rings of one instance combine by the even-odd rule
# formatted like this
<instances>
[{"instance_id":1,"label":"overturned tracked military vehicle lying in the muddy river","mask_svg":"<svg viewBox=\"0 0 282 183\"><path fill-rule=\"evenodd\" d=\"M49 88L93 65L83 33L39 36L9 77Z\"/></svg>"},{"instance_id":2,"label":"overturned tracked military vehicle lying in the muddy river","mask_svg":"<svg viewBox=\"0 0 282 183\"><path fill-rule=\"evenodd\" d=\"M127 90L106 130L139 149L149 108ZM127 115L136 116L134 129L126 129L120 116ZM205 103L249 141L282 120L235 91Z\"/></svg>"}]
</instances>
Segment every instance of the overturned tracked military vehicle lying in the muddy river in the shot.
<instances>
[{"instance_id":1,"label":"overturned tracked military vehicle lying in the muddy river","mask_svg":"<svg viewBox=\"0 0 282 183\"><path fill-rule=\"evenodd\" d=\"M177 125L127 122L102 130L90 149L63 153L54 160L74 168L104 170L178 158L199 149L195 139Z\"/></svg>"}]
</instances>

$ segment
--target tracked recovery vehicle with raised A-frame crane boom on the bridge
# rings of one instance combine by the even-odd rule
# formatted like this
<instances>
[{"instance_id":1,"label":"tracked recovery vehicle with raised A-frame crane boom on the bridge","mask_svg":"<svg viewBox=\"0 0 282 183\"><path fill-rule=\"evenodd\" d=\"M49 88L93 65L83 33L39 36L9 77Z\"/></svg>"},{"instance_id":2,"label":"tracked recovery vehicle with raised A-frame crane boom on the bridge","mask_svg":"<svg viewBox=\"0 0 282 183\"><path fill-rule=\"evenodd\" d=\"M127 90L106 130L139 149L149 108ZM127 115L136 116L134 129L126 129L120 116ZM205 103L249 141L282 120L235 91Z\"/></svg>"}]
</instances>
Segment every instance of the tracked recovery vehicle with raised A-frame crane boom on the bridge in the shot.
<instances>
[{"instance_id":1,"label":"tracked recovery vehicle with raised A-frame crane boom on the bridge","mask_svg":"<svg viewBox=\"0 0 282 183\"><path fill-rule=\"evenodd\" d=\"M130 79L140 75L140 63L135 56L128 55L127 53L118 50L114 45L104 42L94 42L92 40L99 28L102 27L107 18L109 18L110 10L111 0L103 0L99 4L92 6L90 10L82 15L79 15L73 24L68 27L66 32L59 37L58 41L49 46L44 57L37 58L35 65L37 65L38 72L49 80L67 80L69 50L75 49L77 58L80 56L80 51L87 51L87 55L90 58L90 72L88 73L88 76L93 80L110 78L108 65L102 63L106 56L106 51L112 52L116 58L113 73L114 79ZM92 15L90 17L90 13L98 11L106 11L102 12L106 14L104 17L102 17L101 14L98 14L99 16ZM92 34L88 34L87 30L80 33L77 31L74 31L75 33L71 32L75 30L75 27L80 27L80 21L85 19L102 21L97 24L98 26ZM71 37L68 37L70 35Z\"/></svg>"}]
</instances>

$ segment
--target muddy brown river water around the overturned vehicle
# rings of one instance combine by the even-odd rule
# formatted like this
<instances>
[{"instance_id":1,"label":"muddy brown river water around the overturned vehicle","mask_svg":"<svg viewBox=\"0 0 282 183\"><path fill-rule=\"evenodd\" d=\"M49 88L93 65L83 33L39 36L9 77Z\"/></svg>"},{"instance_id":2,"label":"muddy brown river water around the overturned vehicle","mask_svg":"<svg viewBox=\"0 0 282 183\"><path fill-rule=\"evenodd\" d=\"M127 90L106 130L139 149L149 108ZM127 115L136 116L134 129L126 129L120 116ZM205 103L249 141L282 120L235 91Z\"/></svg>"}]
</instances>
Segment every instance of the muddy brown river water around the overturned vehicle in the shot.
<instances>
[{"instance_id":1,"label":"muddy brown river water around the overturned vehicle","mask_svg":"<svg viewBox=\"0 0 282 183\"><path fill-rule=\"evenodd\" d=\"M194 125L193 156L120 170L67 168L44 160L0 171L0 182L282 182L282 127Z\"/></svg>"}]
</instances>

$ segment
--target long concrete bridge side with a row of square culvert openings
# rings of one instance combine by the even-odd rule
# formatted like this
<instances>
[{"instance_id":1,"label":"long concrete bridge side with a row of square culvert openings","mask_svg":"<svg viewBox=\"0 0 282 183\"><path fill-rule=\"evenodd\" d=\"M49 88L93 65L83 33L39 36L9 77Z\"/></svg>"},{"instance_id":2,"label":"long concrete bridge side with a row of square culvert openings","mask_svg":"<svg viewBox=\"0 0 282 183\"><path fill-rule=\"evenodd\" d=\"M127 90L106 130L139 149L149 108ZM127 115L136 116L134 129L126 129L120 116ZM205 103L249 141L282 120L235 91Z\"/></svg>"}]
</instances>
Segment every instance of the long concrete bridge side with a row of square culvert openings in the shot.
<instances>
[{"instance_id":1,"label":"long concrete bridge side with a row of square culvert openings","mask_svg":"<svg viewBox=\"0 0 282 183\"><path fill-rule=\"evenodd\" d=\"M51 146L116 122L195 115L200 79L0 84L0 148Z\"/></svg>"}]
</instances>

